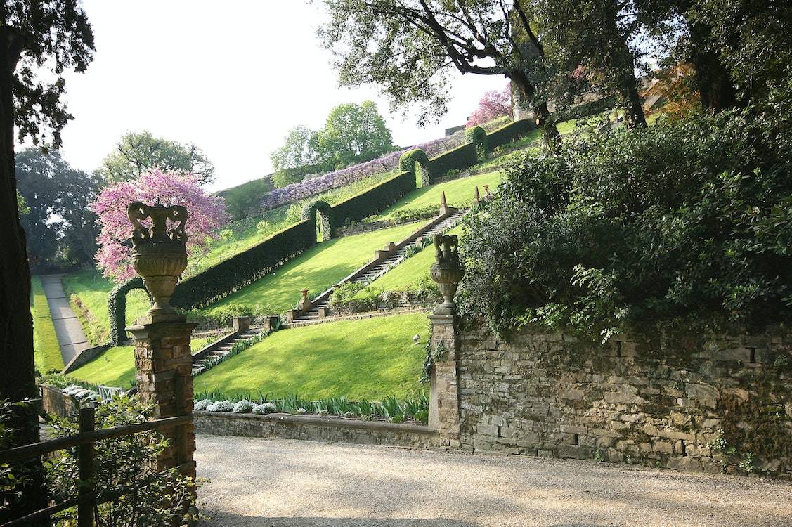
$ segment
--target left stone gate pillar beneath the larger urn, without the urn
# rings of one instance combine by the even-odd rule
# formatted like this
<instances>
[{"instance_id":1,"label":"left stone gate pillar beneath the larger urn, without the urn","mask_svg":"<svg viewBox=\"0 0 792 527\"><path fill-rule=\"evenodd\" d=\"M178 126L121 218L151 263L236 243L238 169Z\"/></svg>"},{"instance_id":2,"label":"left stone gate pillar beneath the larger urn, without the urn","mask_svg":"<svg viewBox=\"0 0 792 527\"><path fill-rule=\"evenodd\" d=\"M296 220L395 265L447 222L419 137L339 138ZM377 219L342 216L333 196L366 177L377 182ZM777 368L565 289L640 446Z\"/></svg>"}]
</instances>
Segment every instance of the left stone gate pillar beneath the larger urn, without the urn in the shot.
<instances>
[{"instance_id":1,"label":"left stone gate pillar beneath the larger urn, without the urn","mask_svg":"<svg viewBox=\"0 0 792 527\"><path fill-rule=\"evenodd\" d=\"M146 322L126 328L135 341L135 378L140 399L154 403L157 419L192 416L190 336L196 324L184 319ZM181 467L182 474L195 478L196 441L192 422L161 432L168 438L170 447L160 456L158 470Z\"/></svg>"}]
</instances>

